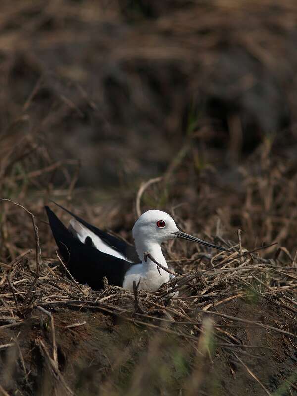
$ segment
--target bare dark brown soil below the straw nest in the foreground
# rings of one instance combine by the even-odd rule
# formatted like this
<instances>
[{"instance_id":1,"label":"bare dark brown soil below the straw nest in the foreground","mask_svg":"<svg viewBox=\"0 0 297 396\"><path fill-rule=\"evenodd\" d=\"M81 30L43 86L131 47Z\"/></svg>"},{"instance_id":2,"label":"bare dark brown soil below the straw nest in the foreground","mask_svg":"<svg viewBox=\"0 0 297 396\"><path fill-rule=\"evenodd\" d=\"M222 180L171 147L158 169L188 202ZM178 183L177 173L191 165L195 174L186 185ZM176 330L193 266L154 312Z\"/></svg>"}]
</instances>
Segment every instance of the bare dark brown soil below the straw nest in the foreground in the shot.
<instances>
[{"instance_id":1,"label":"bare dark brown soil below the straw nest in the foreground","mask_svg":"<svg viewBox=\"0 0 297 396\"><path fill-rule=\"evenodd\" d=\"M275 309L265 300L250 302L238 299L218 309L218 312L251 321L261 321L268 325L274 324L278 318ZM83 312L53 310L52 313L56 329L59 368L66 382L72 385L72 389L75 389L78 395L97 395L99 390L104 388L102 384L106 383L105 386L111 387L112 392L116 390L117 395L129 395L133 373L146 361L150 342L156 336L156 332L145 326L127 323L114 316L91 312L88 309ZM9 382L7 376L3 378L11 351L1 350L0 371L8 392L19 389L23 395L51 393L48 388L51 381L44 371L43 359L36 340L40 337L46 340L49 350L52 340L48 323L45 321L41 325L40 316L40 312L33 310L21 327L0 330L1 344L9 343L20 331L18 343L29 373L26 382L23 372L16 365L13 369L16 371L13 375L14 379ZM83 322L86 323L82 326L65 328L69 324ZM219 318L215 322L226 324L226 319ZM236 351L236 348L234 352L245 361L247 367L265 388L273 395L290 395L285 380L296 383L296 343L282 334L259 327L239 324L238 328L226 330L243 344L255 346L247 349L247 353L258 355L262 359L242 355ZM197 364L195 363L197 357L193 356L191 340L166 335L161 344L163 351L158 354L154 364L160 365L161 372L164 373L165 370L166 381L158 381L155 373L149 372L148 367L148 373L144 375L149 377L145 378L146 395L180 395L183 389L187 389L193 366ZM176 355L170 352L172 345L174 350L180 348L186 351L184 359L187 367L181 368L177 363ZM201 393L202 395L267 395L232 351L228 353L215 345L210 359L199 360L197 376L200 375L202 375L201 391L205 391ZM46 393L44 389L47 389ZM291 388L291 390L293 394L297 394L296 389Z\"/></svg>"}]
</instances>

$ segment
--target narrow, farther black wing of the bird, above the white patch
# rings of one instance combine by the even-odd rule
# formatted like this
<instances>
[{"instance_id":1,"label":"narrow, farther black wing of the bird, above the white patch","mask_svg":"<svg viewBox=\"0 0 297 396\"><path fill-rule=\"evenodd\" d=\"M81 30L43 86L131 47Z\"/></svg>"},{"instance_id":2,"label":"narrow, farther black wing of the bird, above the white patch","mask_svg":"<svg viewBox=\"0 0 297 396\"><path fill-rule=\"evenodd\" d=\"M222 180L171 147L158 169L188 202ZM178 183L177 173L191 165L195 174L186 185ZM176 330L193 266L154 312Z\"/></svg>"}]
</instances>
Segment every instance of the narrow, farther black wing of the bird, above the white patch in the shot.
<instances>
[{"instance_id":1,"label":"narrow, farther black wing of the bird, above the white patch","mask_svg":"<svg viewBox=\"0 0 297 396\"><path fill-rule=\"evenodd\" d=\"M113 249L117 250L119 253L123 254L125 257L127 257L128 260L131 260L134 263L140 263L140 259L137 255L135 246L127 244L127 242L116 238L110 234L107 234L106 232L100 230L99 228L93 226L92 224L87 223L84 219L76 216L74 213L70 212L70 210L64 208L63 206L59 205L58 203L54 202L57 206L59 206L61 209L65 210L65 212L69 213L71 216L73 216L77 221L79 221L81 224L83 224L85 227L87 227L89 230L94 232L94 234L98 235L107 245L112 247Z\"/></svg>"}]
</instances>

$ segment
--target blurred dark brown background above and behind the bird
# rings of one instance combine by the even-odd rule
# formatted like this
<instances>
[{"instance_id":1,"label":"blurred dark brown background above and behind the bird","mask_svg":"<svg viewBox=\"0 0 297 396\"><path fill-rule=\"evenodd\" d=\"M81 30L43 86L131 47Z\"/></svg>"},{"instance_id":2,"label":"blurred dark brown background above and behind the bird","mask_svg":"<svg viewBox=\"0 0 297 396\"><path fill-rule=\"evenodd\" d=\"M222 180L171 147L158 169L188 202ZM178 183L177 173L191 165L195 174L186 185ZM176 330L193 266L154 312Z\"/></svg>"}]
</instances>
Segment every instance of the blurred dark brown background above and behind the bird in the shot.
<instances>
[{"instance_id":1,"label":"blurred dark brown background above and behind the bird","mask_svg":"<svg viewBox=\"0 0 297 396\"><path fill-rule=\"evenodd\" d=\"M249 230L252 244L278 237L295 246L296 1L0 7L4 196L25 197L11 193L11 178L52 193L74 177L93 189L81 207L130 197L134 216L140 183L164 175L144 207L183 204L207 232L219 218L232 233ZM28 176L40 169L41 178Z\"/></svg>"}]
</instances>

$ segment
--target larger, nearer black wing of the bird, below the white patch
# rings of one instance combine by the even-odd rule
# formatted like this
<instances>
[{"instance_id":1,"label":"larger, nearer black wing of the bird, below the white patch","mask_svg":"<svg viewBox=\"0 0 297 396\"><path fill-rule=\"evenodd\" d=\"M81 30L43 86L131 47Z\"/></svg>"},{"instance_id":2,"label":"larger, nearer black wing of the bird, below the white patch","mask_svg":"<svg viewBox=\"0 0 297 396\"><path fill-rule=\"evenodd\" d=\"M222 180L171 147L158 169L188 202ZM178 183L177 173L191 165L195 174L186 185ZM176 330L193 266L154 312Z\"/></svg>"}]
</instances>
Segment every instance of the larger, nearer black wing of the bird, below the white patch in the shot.
<instances>
[{"instance_id":1,"label":"larger, nearer black wing of the bird, below the white patch","mask_svg":"<svg viewBox=\"0 0 297 396\"><path fill-rule=\"evenodd\" d=\"M89 244L83 244L70 233L48 206L45 206L45 209L60 253L68 270L78 282L87 283L92 289L99 290L103 288L103 277L106 276L109 284L123 285L125 274L132 263L102 253Z\"/></svg>"}]
</instances>

